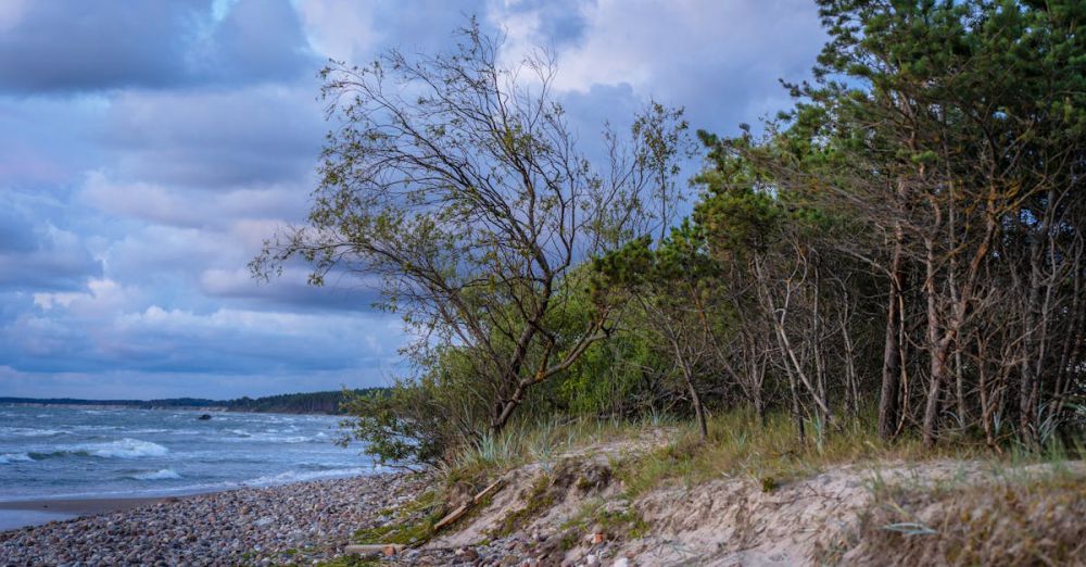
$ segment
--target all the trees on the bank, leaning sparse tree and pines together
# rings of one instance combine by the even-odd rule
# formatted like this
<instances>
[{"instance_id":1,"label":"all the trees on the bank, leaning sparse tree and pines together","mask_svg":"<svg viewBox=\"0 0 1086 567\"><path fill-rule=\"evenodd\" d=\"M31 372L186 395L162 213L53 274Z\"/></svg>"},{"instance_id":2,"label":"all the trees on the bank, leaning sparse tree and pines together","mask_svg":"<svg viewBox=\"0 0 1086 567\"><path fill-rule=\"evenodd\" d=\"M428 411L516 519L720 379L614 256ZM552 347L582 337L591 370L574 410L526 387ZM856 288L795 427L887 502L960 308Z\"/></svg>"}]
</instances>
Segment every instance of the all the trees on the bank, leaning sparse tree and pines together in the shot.
<instances>
[{"instance_id":1,"label":"all the trees on the bank, leaning sparse tree and pines together","mask_svg":"<svg viewBox=\"0 0 1086 567\"><path fill-rule=\"evenodd\" d=\"M310 226L253 262L379 276L417 371L352 395L353 434L439 461L541 417L871 415L887 441L1045 445L1086 396L1086 4L818 0L792 109L698 133L649 104L578 153L553 60L334 63ZM404 98L409 92L409 98ZM678 220L678 222L677 222Z\"/></svg>"}]
</instances>

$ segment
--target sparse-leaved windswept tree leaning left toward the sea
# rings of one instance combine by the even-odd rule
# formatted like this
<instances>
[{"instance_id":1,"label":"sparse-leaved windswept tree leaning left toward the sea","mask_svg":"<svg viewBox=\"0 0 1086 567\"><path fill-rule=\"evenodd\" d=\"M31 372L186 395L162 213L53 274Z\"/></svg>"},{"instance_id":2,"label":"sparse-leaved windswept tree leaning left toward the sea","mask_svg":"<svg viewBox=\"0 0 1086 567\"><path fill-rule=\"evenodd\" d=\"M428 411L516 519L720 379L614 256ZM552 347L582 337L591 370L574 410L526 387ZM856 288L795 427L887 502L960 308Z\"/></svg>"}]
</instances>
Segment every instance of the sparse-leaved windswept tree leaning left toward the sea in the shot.
<instances>
[{"instance_id":1,"label":"sparse-leaved windswept tree leaning left toward the sea","mask_svg":"<svg viewBox=\"0 0 1086 567\"><path fill-rule=\"evenodd\" d=\"M390 51L367 66L333 62L323 94L336 127L307 226L267 242L267 278L301 257L311 284L330 273L379 278L381 306L412 326L408 353L467 355L473 396L498 430L530 390L608 336L606 299L573 327L564 311L581 261L670 225L685 123L651 104L630 138L604 131L606 163L577 147L556 101L555 62L518 65L472 21L447 54Z\"/></svg>"}]
</instances>

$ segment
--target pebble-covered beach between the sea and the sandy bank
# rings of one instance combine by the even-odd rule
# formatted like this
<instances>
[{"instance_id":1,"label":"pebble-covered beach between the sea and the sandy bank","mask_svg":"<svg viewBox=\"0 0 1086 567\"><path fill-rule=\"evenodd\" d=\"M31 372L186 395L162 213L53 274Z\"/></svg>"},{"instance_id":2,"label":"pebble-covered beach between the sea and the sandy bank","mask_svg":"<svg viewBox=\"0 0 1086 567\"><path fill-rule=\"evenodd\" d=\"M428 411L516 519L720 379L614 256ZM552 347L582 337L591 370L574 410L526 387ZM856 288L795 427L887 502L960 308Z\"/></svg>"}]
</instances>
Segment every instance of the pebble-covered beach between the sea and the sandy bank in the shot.
<instances>
[{"instance_id":1,"label":"pebble-covered beach between the sea and the sandy bank","mask_svg":"<svg viewBox=\"0 0 1086 567\"><path fill-rule=\"evenodd\" d=\"M59 521L0 532L0 565L312 565L341 555L356 530L386 521L384 511L426 486L381 474L188 496L5 502L0 513Z\"/></svg>"}]
</instances>

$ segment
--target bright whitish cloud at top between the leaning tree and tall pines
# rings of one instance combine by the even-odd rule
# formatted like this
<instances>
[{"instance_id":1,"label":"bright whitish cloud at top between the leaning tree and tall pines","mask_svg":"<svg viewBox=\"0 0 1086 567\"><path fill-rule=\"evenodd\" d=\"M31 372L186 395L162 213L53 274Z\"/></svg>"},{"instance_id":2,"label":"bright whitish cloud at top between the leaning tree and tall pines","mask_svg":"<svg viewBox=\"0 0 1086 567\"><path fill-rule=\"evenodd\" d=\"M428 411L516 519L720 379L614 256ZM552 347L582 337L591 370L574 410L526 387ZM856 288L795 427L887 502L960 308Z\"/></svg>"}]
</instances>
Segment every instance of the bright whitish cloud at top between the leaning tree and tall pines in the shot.
<instances>
[{"instance_id":1,"label":"bright whitish cloud at top between the leaning tree and tall pines","mask_svg":"<svg viewBox=\"0 0 1086 567\"><path fill-rule=\"evenodd\" d=\"M786 100L776 79L807 76L823 38L805 0L598 0L578 9L580 38L557 46L560 91L630 85L643 99L710 119L779 110ZM506 61L548 43L542 10L490 2L488 20L507 33Z\"/></svg>"}]
</instances>

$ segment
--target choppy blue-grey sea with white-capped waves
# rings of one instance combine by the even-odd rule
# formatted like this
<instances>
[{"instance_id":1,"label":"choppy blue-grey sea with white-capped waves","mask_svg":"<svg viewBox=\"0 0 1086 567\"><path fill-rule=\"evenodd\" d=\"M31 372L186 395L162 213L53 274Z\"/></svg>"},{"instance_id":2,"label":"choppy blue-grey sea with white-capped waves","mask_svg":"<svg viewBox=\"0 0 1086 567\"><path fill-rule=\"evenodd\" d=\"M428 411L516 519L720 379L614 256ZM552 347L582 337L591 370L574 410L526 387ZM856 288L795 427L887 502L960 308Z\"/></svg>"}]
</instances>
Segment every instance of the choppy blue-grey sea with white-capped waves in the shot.
<instances>
[{"instance_id":1,"label":"choppy blue-grey sea with white-capped waves","mask_svg":"<svg viewBox=\"0 0 1086 567\"><path fill-rule=\"evenodd\" d=\"M0 501L159 496L372 472L332 416L0 406Z\"/></svg>"}]
</instances>

